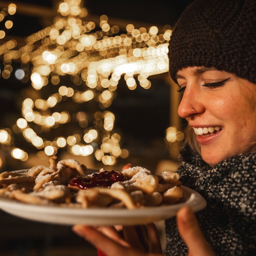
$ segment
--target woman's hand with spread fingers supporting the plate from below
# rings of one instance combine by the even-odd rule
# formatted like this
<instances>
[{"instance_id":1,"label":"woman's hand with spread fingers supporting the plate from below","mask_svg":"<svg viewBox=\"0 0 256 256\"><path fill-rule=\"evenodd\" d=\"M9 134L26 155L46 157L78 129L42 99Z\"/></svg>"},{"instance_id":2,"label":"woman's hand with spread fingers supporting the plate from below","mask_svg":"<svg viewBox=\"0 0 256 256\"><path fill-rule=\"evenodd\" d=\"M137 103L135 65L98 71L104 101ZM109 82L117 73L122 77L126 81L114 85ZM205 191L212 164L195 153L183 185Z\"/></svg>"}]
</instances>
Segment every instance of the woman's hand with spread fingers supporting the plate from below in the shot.
<instances>
[{"instance_id":1,"label":"woman's hand with spread fingers supporting the plate from below","mask_svg":"<svg viewBox=\"0 0 256 256\"><path fill-rule=\"evenodd\" d=\"M177 227L188 247L188 256L214 256L214 252L197 223L193 211L184 207L177 213ZM73 231L85 238L106 256L162 256L161 246L154 224L147 225L150 253L143 251L143 246L133 227L124 227L124 238L111 227L89 227L75 225Z\"/></svg>"}]
</instances>

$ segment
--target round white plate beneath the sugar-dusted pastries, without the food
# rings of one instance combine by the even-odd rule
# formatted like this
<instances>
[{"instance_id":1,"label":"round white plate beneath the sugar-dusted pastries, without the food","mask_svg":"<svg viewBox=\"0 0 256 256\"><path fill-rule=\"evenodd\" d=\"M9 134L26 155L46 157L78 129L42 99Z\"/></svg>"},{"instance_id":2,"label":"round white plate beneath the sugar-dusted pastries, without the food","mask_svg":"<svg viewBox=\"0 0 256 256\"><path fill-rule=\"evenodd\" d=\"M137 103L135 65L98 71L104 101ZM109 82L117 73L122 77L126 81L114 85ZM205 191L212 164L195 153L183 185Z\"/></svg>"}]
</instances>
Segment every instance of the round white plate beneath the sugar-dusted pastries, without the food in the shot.
<instances>
[{"instance_id":1,"label":"round white plate beneath the sugar-dusted pastries, without the food","mask_svg":"<svg viewBox=\"0 0 256 256\"><path fill-rule=\"evenodd\" d=\"M19 172L24 172L20 170ZM31 221L73 225L138 225L160 221L175 216L176 212L185 205L193 211L200 211L206 206L204 198L195 190L181 186L184 190L179 203L145 207L139 209L77 209L52 205L35 205L0 197L0 208L17 217Z\"/></svg>"}]
</instances>

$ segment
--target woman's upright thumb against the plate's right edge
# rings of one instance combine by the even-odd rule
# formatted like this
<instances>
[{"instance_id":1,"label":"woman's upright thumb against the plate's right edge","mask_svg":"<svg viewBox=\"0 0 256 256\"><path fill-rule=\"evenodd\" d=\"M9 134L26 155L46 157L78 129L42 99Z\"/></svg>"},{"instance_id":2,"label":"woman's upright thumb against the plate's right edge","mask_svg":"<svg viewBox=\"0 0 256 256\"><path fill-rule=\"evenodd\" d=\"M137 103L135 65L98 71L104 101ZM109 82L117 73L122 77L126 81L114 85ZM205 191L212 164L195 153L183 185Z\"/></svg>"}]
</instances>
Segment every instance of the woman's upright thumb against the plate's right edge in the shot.
<instances>
[{"instance_id":1,"label":"woman's upright thumb against the plate's right edge","mask_svg":"<svg viewBox=\"0 0 256 256\"><path fill-rule=\"evenodd\" d=\"M191 256L214 256L212 248L205 240L195 214L190 207L183 207L177 213L177 227Z\"/></svg>"}]
</instances>

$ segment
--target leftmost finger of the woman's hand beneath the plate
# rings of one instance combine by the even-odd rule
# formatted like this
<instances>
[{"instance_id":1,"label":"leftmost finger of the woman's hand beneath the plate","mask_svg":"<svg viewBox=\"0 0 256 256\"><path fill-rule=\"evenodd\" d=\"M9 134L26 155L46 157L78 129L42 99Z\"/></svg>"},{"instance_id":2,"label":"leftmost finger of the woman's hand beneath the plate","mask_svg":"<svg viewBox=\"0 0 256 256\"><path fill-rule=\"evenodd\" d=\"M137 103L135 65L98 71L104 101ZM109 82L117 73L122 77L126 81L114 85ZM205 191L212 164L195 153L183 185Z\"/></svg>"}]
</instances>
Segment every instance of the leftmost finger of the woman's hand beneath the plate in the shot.
<instances>
[{"instance_id":1,"label":"leftmost finger of the woman's hand beneath the plate","mask_svg":"<svg viewBox=\"0 0 256 256\"><path fill-rule=\"evenodd\" d=\"M106 237L96 228L83 225L75 225L72 229L76 234L89 241L91 244L93 244L96 248L98 248L107 256L136 255L134 254L134 250L128 249L127 247L124 247L117 243L116 241Z\"/></svg>"}]
</instances>

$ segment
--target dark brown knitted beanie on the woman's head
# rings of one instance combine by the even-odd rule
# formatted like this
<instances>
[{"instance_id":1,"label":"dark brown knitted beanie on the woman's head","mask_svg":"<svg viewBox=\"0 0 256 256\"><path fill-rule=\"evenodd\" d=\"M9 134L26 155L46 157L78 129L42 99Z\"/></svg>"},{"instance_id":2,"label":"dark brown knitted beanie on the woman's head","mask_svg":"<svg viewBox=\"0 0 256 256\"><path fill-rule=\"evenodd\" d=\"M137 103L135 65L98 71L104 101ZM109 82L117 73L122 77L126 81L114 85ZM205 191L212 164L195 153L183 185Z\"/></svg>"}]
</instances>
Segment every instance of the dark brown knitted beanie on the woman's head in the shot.
<instances>
[{"instance_id":1,"label":"dark brown knitted beanie on the woman's head","mask_svg":"<svg viewBox=\"0 0 256 256\"><path fill-rule=\"evenodd\" d=\"M196 0L169 42L170 74L214 67L256 84L256 0Z\"/></svg>"}]
</instances>

